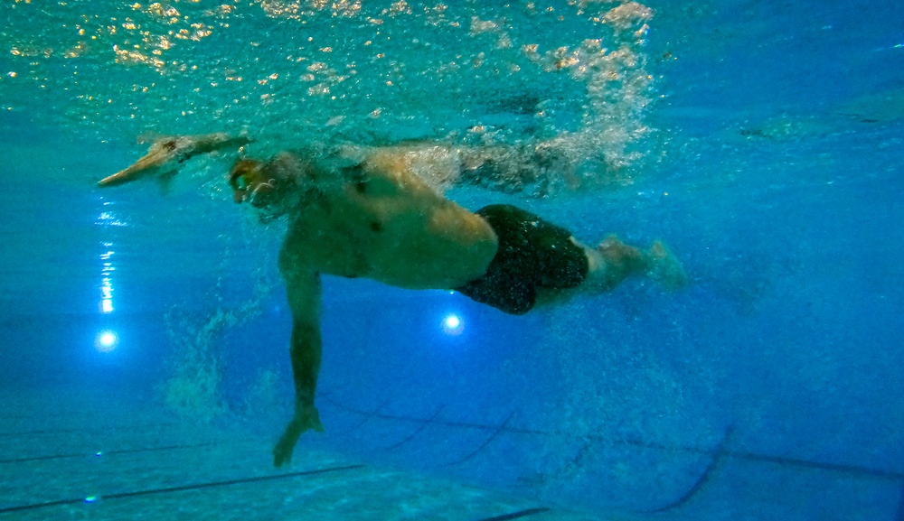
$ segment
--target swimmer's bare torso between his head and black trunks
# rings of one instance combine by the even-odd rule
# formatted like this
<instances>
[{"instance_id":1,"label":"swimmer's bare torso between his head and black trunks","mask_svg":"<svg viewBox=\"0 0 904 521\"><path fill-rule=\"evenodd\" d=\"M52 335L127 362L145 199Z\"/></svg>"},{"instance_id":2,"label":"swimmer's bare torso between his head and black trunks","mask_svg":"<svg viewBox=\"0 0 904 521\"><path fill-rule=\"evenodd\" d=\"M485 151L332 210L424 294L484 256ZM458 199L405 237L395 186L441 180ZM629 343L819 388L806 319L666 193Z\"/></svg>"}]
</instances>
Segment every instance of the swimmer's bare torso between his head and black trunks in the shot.
<instances>
[{"instance_id":1,"label":"swimmer's bare torso between his head and black trunks","mask_svg":"<svg viewBox=\"0 0 904 521\"><path fill-rule=\"evenodd\" d=\"M441 159L438 166L447 168ZM317 176L290 214L284 271L451 289L484 274L495 255L496 237L485 220L412 174L410 157L371 155L326 175Z\"/></svg>"}]
</instances>

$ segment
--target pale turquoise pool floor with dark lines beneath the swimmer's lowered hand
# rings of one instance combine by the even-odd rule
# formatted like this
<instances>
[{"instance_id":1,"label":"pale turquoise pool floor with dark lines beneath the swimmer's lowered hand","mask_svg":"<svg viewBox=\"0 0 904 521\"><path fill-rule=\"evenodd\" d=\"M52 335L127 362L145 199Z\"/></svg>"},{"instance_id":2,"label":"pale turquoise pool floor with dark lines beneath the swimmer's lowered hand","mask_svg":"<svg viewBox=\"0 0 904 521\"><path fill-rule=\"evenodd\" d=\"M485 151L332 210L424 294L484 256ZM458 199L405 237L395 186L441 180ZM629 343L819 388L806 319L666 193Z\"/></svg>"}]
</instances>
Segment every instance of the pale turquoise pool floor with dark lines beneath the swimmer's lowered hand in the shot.
<instances>
[{"instance_id":1,"label":"pale turquoise pool floor with dark lines beneath the swimmer's lowered hand","mask_svg":"<svg viewBox=\"0 0 904 521\"><path fill-rule=\"evenodd\" d=\"M112 396L5 395L0 425L0 519L601 519L303 444L275 470L246 426Z\"/></svg>"}]
</instances>

